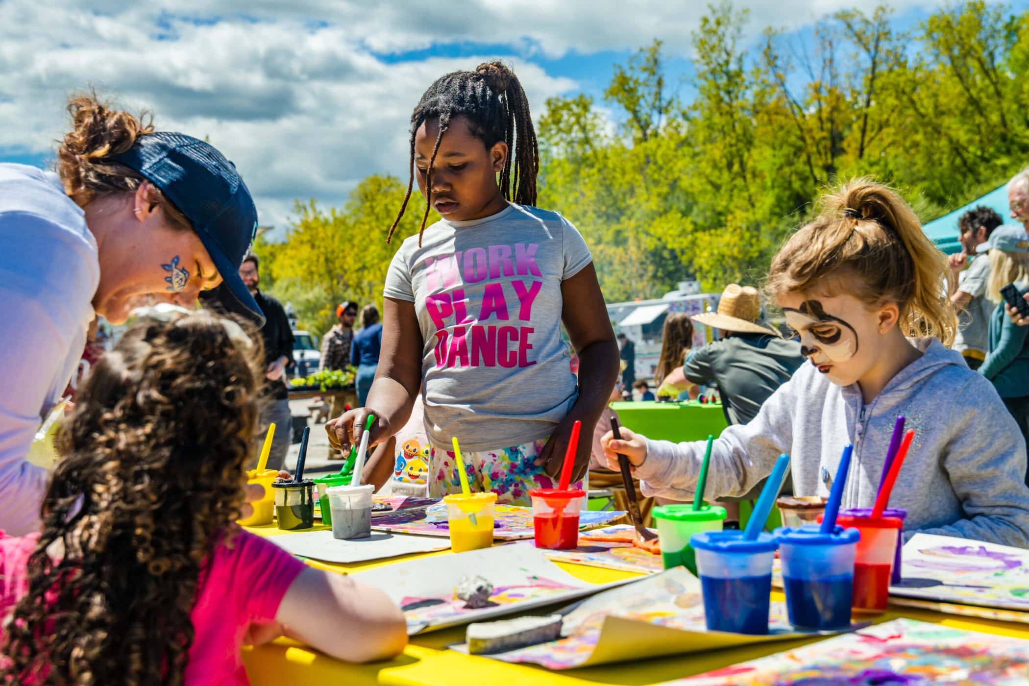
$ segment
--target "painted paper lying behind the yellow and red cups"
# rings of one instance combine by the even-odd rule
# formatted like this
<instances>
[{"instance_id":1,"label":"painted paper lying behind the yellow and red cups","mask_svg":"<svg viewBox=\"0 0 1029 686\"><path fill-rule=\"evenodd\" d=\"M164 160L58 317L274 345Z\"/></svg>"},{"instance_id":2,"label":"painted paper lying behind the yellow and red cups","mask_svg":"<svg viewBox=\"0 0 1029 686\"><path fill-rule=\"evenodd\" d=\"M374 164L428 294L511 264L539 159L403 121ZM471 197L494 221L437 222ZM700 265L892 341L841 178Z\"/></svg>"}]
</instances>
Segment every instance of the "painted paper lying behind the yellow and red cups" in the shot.
<instances>
[{"instance_id":1,"label":"painted paper lying behind the yellow and red cups","mask_svg":"<svg viewBox=\"0 0 1029 686\"><path fill-rule=\"evenodd\" d=\"M411 500L410 498L407 500ZM450 536L447 525L447 505L438 499L431 500L427 507L412 507L377 516L372 529L397 534L420 534L422 536ZM609 523L625 512L618 510L583 510L579 514L579 529L589 529ZM533 537L532 508L517 505L497 505L494 508L493 538L517 541Z\"/></svg>"}]
</instances>

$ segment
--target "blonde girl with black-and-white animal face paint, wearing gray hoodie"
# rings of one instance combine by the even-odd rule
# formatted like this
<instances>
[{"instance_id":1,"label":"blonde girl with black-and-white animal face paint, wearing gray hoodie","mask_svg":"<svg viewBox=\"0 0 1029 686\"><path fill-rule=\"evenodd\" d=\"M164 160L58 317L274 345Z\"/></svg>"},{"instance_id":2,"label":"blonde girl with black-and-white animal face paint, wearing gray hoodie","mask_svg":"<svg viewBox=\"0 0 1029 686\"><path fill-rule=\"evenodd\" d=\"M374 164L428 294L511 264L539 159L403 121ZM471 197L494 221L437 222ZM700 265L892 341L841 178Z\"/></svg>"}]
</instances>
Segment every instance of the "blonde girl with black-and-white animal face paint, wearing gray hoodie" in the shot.
<instances>
[{"instance_id":1,"label":"blonde girl with black-and-white animal face paint, wearing gray hoodie","mask_svg":"<svg viewBox=\"0 0 1029 686\"><path fill-rule=\"evenodd\" d=\"M746 425L714 442L705 494L741 496L792 457L793 490L828 496L854 446L844 507L871 507L897 416L915 439L890 499L915 532L1029 547L1026 445L992 385L949 349L950 272L911 208L867 179L822 197L821 212L772 262L766 291L800 335L802 366ZM628 455L644 494L688 500L704 443L626 428L602 443Z\"/></svg>"}]
</instances>

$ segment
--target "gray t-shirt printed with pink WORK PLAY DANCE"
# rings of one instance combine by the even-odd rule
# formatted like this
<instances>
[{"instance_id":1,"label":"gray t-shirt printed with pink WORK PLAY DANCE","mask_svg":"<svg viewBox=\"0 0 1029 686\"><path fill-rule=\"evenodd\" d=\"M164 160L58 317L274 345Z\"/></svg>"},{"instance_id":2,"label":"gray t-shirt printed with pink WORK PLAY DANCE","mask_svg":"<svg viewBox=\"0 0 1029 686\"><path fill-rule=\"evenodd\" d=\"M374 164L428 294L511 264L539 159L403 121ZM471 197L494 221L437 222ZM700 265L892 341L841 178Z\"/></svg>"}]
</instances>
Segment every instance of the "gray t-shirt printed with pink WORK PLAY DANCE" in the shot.
<instances>
[{"instance_id":1,"label":"gray t-shirt printed with pink WORK PLAY DANCE","mask_svg":"<svg viewBox=\"0 0 1029 686\"><path fill-rule=\"evenodd\" d=\"M511 204L403 242L384 295L415 303L430 441L469 452L545 438L577 395L561 282L592 261L557 212Z\"/></svg>"}]
</instances>

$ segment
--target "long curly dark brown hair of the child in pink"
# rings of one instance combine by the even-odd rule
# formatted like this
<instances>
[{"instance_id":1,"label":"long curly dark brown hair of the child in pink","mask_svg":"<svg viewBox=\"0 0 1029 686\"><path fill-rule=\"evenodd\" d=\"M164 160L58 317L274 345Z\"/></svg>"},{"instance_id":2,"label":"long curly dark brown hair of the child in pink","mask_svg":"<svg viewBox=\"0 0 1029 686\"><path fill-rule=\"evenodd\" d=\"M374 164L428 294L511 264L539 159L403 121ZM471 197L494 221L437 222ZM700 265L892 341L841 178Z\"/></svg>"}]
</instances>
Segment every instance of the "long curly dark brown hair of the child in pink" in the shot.
<instances>
[{"instance_id":1,"label":"long curly dark brown hair of the child in pink","mask_svg":"<svg viewBox=\"0 0 1029 686\"><path fill-rule=\"evenodd\" d=\"M0 684L182 683L198 579L243 505L263 378L259 344L225 321L140 324L94 367L58 435Z\"/></svg>"}]
</instances>

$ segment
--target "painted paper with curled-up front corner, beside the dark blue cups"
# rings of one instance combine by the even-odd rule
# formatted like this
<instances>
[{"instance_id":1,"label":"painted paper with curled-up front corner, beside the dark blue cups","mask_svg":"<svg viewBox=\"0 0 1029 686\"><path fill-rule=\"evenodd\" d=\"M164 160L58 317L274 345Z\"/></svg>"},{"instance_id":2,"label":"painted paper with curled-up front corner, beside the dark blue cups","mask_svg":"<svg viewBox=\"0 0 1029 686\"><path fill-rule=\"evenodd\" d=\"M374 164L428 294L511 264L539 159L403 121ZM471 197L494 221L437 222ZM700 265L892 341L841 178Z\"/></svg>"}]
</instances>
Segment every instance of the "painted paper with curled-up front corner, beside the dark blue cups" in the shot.
<instances>
[{"instance_id":1,"label":"painted paper with curled-up front corner, beside the dark blue cups","mask_svg":"<svg viewBox=\"0 0 1029 686\"><path fill-rule=\"evenodd\" d=\"M682 567L598 593L561 614L557 641L486 657L570 670L803 636L790 627L782 603L771 605L768 636L707 631L700 580Z\"/></svg>"}]
</instances>

